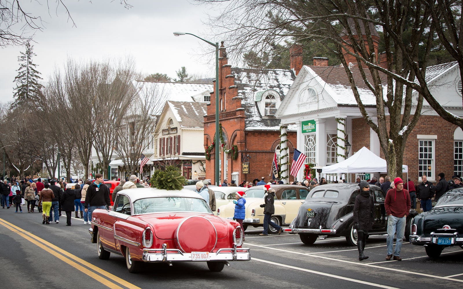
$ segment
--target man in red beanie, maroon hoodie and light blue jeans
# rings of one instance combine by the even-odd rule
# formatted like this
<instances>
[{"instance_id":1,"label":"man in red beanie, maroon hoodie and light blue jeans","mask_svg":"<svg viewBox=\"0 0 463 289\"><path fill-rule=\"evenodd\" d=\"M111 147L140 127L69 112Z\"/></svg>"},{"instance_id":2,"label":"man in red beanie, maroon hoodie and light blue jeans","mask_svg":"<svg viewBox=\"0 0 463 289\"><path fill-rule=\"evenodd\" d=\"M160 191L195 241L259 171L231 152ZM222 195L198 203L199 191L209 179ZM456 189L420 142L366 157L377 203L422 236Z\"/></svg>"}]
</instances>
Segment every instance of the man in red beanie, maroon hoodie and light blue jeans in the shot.
<instances>
[{"instance_id":1,"label":"man in red beanie, maroon hoodie and light blue jeans","mask_svg":"<svg viewBox=\"0 0 463 289\"><path fill-rule=\"evenodd\" d=\"M401 178L394 179L394 189L390 189L384 200L384 208L388 214L388 256L386 260L392 258L392 247L394 243L394 234L397 233L395 242L394 260L401 261L400 248L405 234L407 224L407 215L410 212L410 194L404 189L404 182Z\"/></svg>"}]
</instances>

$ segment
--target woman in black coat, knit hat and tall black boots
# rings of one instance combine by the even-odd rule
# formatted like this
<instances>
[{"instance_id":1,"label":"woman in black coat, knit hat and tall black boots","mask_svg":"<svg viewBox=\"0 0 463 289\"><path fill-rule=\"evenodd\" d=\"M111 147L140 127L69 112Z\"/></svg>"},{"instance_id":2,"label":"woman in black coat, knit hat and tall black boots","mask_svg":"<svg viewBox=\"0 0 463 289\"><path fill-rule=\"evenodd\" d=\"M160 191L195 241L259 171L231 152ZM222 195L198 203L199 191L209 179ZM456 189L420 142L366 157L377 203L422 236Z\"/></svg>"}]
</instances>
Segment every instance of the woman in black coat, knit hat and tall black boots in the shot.
<instances>
[{"instance_id":1,"label":"woman in black coat, knit hat and tall black boots","mask_svg":"<svg viewBox=\"0 0 463 289\"><path fill-rule=\"evenodd\" d=\"M368 259L368 256L363 254L365 244L368 236L368 231L373 225L373 215L375 203L370 194L369 184L367 181L361 181L358 186L360 187L360 194L355 198L354 205L354 227L357 229L357 249L358 259L360 261Z\"/></svg>"}]
</instances>

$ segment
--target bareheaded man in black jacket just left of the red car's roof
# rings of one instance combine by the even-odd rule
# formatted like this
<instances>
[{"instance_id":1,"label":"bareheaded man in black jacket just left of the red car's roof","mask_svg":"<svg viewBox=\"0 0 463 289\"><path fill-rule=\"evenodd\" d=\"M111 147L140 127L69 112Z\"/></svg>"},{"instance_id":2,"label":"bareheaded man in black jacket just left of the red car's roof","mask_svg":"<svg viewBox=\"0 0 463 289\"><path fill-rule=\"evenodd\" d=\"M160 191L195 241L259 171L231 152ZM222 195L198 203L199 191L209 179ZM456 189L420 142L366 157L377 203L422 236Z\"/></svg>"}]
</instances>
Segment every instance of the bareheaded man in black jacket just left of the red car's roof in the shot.
<instances>
[{"instance_id":1,"label":"bareheaded man in black jacket just left of the red car's roof","mask_svg":"<svg viewBox=\"0 0 463 289\"><path fill-rule=\"evenodd\" d=\"M109 188L103 184L103 175L97 173L94 183L88 186L85 196L84 207L85 211L88 212L88 221L93 221L92 212L94 209L105 209L105 206L111 206Z\"/></svg>"}]
</instances>

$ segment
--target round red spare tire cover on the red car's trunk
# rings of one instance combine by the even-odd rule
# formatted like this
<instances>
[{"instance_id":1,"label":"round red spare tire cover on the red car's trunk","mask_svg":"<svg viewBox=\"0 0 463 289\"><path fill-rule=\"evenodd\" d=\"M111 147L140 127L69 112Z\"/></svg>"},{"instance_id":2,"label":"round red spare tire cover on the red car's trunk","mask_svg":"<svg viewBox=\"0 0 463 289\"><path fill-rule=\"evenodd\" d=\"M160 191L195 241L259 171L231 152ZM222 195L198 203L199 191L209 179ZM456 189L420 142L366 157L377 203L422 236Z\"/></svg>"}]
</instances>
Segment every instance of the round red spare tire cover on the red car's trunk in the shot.
<instances>
[{"instance_id":1,"label":"round red spare tire cover on the red car's trunk","mask_svg":"<svg viewBox=\"0 0 463 289\"><path fill-rule=\"evenodd\" d=\"M182 252L212 252L217 244L217 231L205 217L191 216L178 225L176 239Z\"/></svg>"}]
</instances>

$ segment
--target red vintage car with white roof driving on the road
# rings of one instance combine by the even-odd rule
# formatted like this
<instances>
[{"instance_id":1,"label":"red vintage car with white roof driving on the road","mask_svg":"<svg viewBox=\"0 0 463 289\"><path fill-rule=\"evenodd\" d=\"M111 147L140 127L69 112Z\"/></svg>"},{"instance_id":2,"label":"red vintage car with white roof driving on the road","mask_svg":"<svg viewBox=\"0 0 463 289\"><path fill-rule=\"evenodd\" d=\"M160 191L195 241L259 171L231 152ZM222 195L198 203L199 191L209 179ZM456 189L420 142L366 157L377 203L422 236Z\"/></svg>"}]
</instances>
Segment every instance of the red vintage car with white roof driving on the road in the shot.
<instances>
[{"instance_id":1,"label":"red vintage car with white roof driving on the road","mask_svg":"<svg viewBox=\"0 0 463 289\"><path fill-rule=\"evenodd\" d=\"M98 257L124 256L132 273L143 262L206 261L210 271L222 271L228 261L250 260L238 222L213 215L190 190L122 190L113 209L95 209L91 222Z\"/></svg>"}]
</instances>

